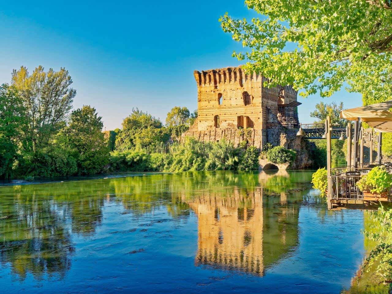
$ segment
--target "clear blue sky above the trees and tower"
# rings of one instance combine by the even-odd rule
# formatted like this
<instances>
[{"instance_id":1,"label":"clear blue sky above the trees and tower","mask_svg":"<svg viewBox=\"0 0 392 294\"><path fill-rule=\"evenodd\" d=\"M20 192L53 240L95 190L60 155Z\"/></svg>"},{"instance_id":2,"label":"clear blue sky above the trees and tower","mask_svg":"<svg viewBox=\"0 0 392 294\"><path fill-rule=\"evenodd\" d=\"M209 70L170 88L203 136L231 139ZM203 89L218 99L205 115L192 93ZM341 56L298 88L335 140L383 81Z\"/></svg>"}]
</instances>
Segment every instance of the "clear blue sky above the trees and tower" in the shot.
<instances>
[{"instance_id":1,"label":"clear blue sky above the trees and tower","mask_svg":"<svg viewBox=\"0 0 392 294\"><path fill-rule=\"evenodd\" d=\"M203 3L203 5L201 5ZM0 83L12 69L68 69L74 107L94 106L106 129L121 127L132 107L165 122L174 106L197 108L193 71L240 65L241 45L218 22L226 11L256 16L243 0L4 1L0 6ZM303 123L321 98L298 98ZM344 89L325 102L360 106L361 95Z\"/></svg>"}]
</instances>

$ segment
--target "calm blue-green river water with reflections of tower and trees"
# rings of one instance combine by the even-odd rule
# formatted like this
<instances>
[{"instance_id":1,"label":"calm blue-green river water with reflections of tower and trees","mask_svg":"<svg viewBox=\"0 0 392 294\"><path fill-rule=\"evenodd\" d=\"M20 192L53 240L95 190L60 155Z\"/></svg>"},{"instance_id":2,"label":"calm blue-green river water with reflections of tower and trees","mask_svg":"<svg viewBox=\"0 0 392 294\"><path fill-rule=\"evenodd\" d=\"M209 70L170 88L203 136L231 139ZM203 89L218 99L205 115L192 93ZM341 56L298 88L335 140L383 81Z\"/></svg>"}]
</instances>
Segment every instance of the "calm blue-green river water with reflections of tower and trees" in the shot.
<instances>
[{"instance_id":1,"label":"calm blue-green river water with reflections of tower and trees","mask_svg":"<svg viewBox=\"0 0 392 294\"><path fill-rule=\"evenodd\" d=\"M364 212L312 171L185 172L0 187L3 293L341 293Z\"/></svg>"}]
</instances>

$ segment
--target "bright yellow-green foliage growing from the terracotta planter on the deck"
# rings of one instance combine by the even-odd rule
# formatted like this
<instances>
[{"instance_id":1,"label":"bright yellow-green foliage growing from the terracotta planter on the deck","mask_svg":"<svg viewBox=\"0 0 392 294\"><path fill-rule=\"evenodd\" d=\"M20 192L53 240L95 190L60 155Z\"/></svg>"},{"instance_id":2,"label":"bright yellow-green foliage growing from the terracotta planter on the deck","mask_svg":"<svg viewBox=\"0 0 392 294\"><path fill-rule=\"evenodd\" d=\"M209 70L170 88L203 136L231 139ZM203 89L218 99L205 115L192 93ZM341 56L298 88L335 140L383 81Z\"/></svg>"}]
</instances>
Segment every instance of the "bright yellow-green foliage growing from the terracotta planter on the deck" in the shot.
<instances>
[{"instance_id":1,"label":"bright yellow-green foliage growing from the terracotta planter on the deck","mask_svg":"<svg viewBox=\"0 0 392 294\"><path fill-rule=\"evenodd\" d=\"M392 187L391 175L383 167L373 167L372 170L356 183L361 191L381 194Z\"/></svg>"}]
</instances>

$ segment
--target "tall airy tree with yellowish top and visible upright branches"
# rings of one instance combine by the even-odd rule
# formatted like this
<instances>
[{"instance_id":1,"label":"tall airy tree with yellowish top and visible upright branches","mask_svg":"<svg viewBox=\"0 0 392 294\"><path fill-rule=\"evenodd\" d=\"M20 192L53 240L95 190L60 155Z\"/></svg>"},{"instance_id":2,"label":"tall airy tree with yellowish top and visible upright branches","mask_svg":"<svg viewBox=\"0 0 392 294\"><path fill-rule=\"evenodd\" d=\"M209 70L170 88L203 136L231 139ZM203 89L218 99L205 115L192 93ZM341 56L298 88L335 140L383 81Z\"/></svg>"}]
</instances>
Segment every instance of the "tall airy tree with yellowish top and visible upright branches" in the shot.
<instances>
[{"instance_id":1,"label":"tall airy tree with yellowish top and visible upright branches","mask_svg":"<svg viewBox=\"0 0 392 294\"><path fill-rule=\"evenodd\" d=\"M33 74L22 66L12 73L12 84L22 99L25 120L22 132L29 143L26 149L36 151L45 146L65 125L72 108L76 90L70 88L71 76L65 68L60 71L38 66Z\"/></svg>"}]
</instances>

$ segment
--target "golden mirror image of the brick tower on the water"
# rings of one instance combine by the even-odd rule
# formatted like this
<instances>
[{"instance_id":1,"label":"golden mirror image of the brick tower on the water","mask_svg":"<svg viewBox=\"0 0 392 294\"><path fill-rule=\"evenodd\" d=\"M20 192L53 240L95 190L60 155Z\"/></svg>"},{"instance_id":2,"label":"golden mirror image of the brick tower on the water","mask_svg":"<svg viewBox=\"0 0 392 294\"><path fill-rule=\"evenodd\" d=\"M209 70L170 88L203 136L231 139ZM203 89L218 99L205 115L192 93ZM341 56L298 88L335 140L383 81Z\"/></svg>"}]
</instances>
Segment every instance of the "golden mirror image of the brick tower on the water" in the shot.
<instances>
[{"instance_id":1,"label":"golden mirror image of the brick tower on the water","mask_svg":"<svg viewBox=\"0 0 392 294\"><path fill-rule=\"evenodd\" d=\"M261 173L263 187L234 187L226 194L206 192L185 200L198 216L195 264L263 276L285 258L298 245L302 201L301 192L286 192L287 185L278 185L288 178L285 172Z\"/></svg>"}]
</instances>

